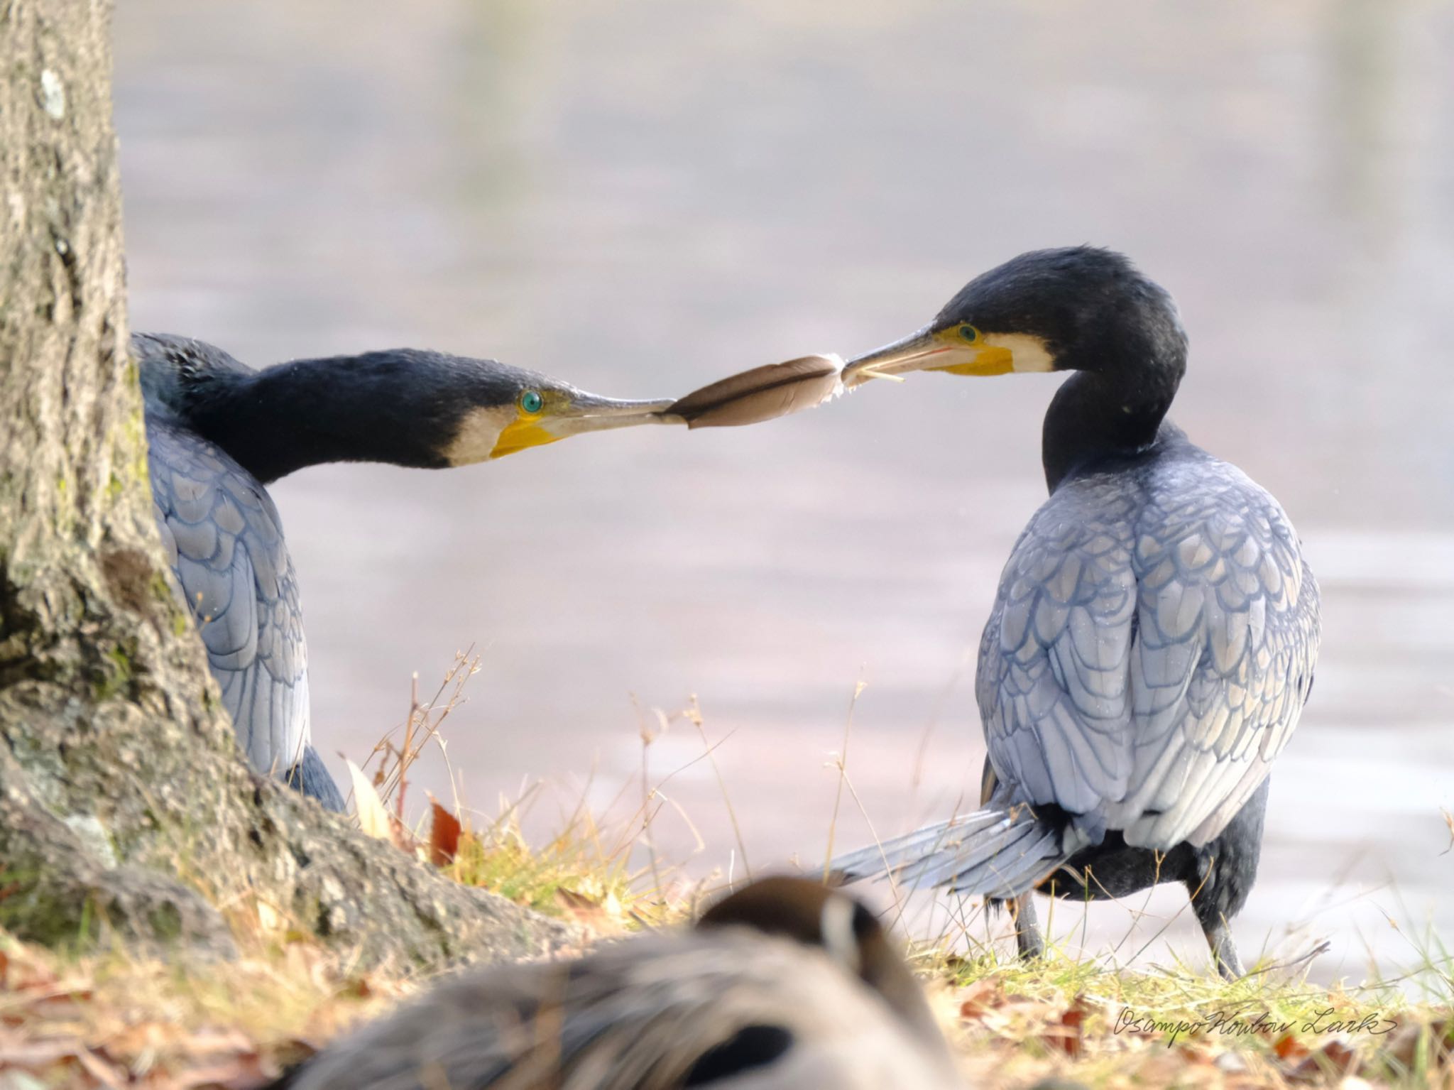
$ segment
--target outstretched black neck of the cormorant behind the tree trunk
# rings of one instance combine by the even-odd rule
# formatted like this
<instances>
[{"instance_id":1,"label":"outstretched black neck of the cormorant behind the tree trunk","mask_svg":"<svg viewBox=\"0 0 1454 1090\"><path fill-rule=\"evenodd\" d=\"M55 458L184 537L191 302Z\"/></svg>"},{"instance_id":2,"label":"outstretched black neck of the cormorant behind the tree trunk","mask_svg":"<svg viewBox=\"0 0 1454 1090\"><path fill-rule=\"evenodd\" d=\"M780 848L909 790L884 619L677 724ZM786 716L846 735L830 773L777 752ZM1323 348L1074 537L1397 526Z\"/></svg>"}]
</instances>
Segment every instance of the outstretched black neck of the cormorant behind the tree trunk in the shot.
<instances>
[{"instance_id":1,"label":"outstretched black neck of the cormorant behind the tree trunk","mask_svg":"<svg viewBox=\"0 0 1454 1090\"><path fill-rule=\"evenodd\" d=\"M263 484L321 462L433 469L487 382L480 360L413 349L304 359L199 378L183 420Z\"/></svg>"}]
</instances>

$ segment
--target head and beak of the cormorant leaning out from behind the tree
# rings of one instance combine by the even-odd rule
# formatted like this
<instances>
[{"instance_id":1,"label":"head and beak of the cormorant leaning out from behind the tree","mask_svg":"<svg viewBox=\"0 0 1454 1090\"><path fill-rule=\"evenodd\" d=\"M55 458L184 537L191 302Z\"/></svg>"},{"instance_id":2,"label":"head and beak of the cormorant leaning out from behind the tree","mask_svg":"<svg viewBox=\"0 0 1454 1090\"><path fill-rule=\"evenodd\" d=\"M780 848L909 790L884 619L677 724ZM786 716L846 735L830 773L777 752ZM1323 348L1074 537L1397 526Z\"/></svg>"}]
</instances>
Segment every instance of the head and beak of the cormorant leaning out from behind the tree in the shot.
<instances>
[{"instance_id":1,"label":"head and beak of the cormorant leaning out from behind the tree","mask_svg":"<svg viewBox=\"0 0 1454 1090\"><path fill-rule=\"evenodd\" d=\"M449 465L503 458L585 432L683 423L666 413L670 400L621 401L494 360L468 363L474 371L464 398L468 407L443 448Z\"/></svg>"}]
</instances>

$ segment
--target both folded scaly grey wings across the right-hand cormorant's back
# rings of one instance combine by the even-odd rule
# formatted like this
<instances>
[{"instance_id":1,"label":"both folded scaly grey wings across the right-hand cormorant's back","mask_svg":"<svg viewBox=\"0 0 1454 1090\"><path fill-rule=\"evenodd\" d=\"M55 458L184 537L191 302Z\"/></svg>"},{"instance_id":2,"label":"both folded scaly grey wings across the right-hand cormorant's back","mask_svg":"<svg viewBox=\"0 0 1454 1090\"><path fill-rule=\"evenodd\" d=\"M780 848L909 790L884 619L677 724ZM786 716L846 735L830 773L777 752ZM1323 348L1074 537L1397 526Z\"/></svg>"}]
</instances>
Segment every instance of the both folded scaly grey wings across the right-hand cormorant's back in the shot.
<instances>
[{"instance_id":1,"label":"both folded scaly grey wings across the right-hand cormorant's back","mask_svg":"<svg viewBox=\"0 0 1454 1090\"><path fill-rule=\"evenodd\" d=\"M1031 804L1168 850L1214 837L1297 724L1317 590L1277 501L1207 455L1072 481L980 645L990 760Z\"/></svg>"}]
</instances>

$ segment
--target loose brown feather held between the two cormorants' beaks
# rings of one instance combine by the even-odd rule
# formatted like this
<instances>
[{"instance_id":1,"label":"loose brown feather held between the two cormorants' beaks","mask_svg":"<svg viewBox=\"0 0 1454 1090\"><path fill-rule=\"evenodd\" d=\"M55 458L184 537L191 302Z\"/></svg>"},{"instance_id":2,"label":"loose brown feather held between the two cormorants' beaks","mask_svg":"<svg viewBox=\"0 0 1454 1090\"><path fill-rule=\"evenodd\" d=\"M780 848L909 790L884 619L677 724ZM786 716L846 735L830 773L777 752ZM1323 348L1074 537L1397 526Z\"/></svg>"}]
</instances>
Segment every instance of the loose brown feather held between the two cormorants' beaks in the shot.
<instances>
[{"instance_id":1,"label":"loose brown feather held between the two cormorants' beaks","mask_svg":"<svg viewBox=\"0 0 1454 1090\"><path fill-rule=\"evenodd\" d=\"M843 359L801 356L743 371L694 389L666 411L688 427L742 427L801 413L843 391Z\"/></svg>"}]
</instances>

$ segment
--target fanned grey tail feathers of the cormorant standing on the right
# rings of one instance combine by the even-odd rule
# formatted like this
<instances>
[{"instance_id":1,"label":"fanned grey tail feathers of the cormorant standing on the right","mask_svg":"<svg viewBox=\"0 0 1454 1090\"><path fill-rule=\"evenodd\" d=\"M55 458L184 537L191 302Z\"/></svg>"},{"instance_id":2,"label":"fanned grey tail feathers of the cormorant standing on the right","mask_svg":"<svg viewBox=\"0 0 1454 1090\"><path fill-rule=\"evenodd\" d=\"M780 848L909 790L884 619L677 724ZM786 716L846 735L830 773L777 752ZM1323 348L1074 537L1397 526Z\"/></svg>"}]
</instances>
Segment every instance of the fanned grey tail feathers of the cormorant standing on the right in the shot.
<instances>
[{"instance_id":1,"label":"fanned grey tail feathers of the cormorant standing on the right","mask_svg":"<svg viewBox=\"0 0 1454 1090\"><path fill-rule=\"evenodd\" d=\"M829 868L845 882L891 875L912 888L948 885L1008 900L1034 889L1067 857L1060 830L1016 805L925 825L839 856Z\"/></svg>"}]
</instances>

